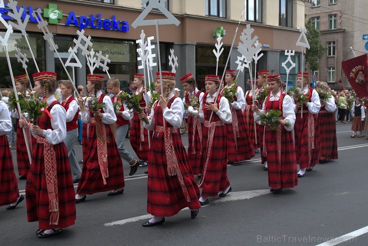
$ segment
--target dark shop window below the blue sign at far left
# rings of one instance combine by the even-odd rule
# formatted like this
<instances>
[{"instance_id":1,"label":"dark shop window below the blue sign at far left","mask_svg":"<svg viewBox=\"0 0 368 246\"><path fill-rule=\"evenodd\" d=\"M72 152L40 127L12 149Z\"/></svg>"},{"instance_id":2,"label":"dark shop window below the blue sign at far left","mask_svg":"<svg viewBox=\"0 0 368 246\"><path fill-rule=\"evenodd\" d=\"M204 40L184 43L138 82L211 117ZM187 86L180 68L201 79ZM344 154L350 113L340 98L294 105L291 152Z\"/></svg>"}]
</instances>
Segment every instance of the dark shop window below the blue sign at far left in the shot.
<instances>
[{"instance_id":1,"label":"dark shop window below the blue sign at far left","mask_svg":"<svg viewBox=\"0 0 368 246\"><path fill-rule=\"evenodd\" d=\"M0 35L4 36L5 33L0 32ZM45 41L42 35L28 34L28 41L36 58L38 68L40 69L40 71L45 70ZM27 55L27 59L29 60L29 62L27 63L27 71L29 76L31 77L33 73L37 72L37 69L32 60L31 52L29 50L27 42L21 33L12 33L8 40L8 51L14 76L25 74L25 70L24 68L22 68L22 64L18 63L15 57L16 48L20 49L21 53ZM9 66L6 61L5 50L2 45L0 45L0 88L12 88Z\"/></svg>"}]
</instances>

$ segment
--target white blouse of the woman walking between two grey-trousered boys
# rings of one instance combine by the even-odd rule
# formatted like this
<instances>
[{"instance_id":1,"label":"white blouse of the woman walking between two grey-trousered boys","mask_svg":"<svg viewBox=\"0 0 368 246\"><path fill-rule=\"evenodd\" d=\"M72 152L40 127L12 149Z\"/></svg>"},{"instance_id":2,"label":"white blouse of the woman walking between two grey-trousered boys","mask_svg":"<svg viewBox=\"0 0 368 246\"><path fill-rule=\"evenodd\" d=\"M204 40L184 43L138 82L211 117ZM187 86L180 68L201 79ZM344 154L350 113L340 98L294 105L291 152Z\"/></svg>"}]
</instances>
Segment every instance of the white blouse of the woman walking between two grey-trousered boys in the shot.
<instances>
[{"instance_id":1,"label":"white blouse of the woman walking between two grey-trousered boys","mask_svg":"<svg viewBox=\"0 0 368 246\"><path fill-rule=\"evenodd\" d=\"M99 96L101 96L102 91L98 91L97 92L97 98L99 98ZM109 96L104 96L103 103L105 103L105 108L103 108L103 112L102 113L102 123L104 124L113 124L116 122L116 115L114 112L114 106L112 105L111 102L111 98ZM88 106L88 101L86 100L86 104L85 104L85 108L86 111L81 112L81 120L83 123L89 124L91 123L91 116L90 116L90 109Z\"/></svg>"}]
</instances>

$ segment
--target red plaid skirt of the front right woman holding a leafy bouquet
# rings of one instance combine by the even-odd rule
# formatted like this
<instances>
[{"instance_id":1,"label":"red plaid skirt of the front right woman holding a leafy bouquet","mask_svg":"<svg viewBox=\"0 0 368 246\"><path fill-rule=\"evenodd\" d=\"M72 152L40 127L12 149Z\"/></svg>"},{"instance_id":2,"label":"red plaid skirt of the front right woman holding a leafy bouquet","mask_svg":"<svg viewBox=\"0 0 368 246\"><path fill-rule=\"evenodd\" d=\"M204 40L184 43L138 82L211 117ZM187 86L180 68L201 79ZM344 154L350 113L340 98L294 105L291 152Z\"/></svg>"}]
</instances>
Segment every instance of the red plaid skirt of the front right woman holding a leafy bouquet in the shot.
<instances>
[{"instance_id":1,"label":"red plaid skirt of the front right woman holding a leafy bouquet","mask_svg":"<svg viewBox=\"0 0 368 246\"><path fill-rule=\"evenodd\" d=\"M298 185L296 158L292 131L281 126L281 163L279 164L276 130L265 132L269 186L274 189L292 188Z\"/></svg>"}]
</instances>

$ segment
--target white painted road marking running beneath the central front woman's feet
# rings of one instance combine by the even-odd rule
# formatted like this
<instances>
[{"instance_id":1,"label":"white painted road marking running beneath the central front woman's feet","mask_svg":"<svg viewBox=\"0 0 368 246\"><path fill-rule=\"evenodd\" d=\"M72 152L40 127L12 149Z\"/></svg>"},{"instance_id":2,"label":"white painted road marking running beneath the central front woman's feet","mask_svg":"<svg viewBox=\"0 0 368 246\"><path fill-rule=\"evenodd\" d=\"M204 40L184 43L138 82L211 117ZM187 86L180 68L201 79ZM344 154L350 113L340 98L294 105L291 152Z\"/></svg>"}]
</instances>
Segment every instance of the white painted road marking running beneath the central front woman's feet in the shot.
<instances>
[{"instance_id":1,"label":"white painted road marking running beneath the central front woman's feet","mask_svg":"<svg viewBox=\"0 0 368 246\"><path fill-rule=\"evenodd\" d=\"M253 198L253 197L258 197L258 196L266 195L266 194L271 194L269 189L267 189L267 190L230 192L229 195L227 195L226 197L218 199L218 200L211 201L208 205L205 205L204 207L208 207L208 206L211 206L211 205L214 205L214 204L217 204L217 203L250 199L250 198ZM184 210L188 210L188 208L182 209L181 211L184 211ZM137 217L128 218L128 219L124 219L124 220L105 223L104 226L108 227L108 226L124 225L124 224L130 223L130 222L136 222L136 221L146 220L146 219L150 219L150 218L152 218L152 215L147 214L147 215L137 216Z\"/></svg>"}]
</instances>

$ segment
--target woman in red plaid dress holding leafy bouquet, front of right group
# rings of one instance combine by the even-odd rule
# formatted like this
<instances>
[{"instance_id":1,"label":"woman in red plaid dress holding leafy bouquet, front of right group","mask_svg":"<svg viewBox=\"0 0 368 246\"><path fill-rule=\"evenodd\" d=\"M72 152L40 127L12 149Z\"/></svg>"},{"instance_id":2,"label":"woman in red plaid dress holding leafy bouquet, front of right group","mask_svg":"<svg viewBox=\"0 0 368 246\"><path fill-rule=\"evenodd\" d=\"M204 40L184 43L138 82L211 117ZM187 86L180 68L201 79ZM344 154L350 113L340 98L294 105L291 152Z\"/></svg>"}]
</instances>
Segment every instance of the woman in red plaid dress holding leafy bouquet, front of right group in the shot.
<instances>
[{"instance_id":1,"label":"woman in red plaid dress holding leafy bouquet, front of right group","mask_svg":"<svg viewBox=\"0 0 368 246\"><path fill-rule=\"evenodd\" d=\"M292 139L292 128L295 123L294 104L292 99L281 91L281 80L278 74L268 76L270 94L262 105L262 110L253 105L254 118L271 110L280 110L281 121L276 130L265 126L263 134L263 151L267 156L269 186L271 192L278 194L283 188L298 185L296 174L296 158Z\"/></svg>"}]
</instances>

